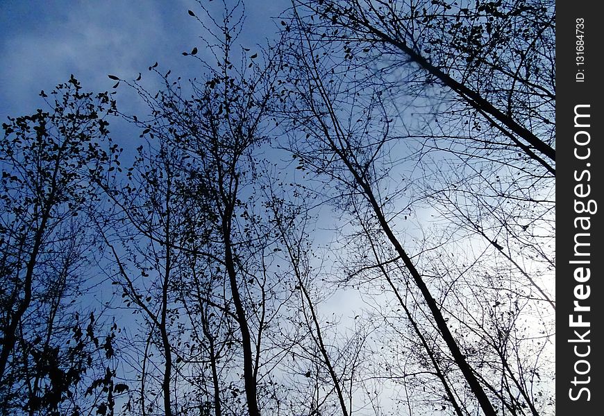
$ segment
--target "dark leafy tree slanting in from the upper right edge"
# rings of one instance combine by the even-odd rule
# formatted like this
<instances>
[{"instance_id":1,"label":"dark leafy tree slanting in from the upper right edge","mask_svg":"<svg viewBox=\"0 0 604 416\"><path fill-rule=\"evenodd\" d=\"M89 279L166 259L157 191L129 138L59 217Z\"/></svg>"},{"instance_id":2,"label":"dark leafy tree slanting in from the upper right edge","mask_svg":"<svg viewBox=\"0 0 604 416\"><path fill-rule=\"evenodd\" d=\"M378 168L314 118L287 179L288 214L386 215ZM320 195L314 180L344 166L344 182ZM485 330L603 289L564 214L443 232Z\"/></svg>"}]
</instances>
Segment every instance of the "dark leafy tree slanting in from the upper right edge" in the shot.
<instances>
[{"instance_id":1,"label":"dark leafy tree slanting in from the upper right edge","mask_svg":"<svg viewBox=\"0 0 604 416\"><path fill-rule=\"evenodd\" d=\"M310 31L328 42L342 43L347 58L392 56L395 65L411 64L407 89L410 84L418 89L434 83L446 87L510 142L483 145L511 146L551 175L555 173L554 13L550 2L453 5L446 1L341 4L320 0L296 4L317 17L308 26ZM451 111L463 114L463 110Z\"/></svg>"}]
</instances>

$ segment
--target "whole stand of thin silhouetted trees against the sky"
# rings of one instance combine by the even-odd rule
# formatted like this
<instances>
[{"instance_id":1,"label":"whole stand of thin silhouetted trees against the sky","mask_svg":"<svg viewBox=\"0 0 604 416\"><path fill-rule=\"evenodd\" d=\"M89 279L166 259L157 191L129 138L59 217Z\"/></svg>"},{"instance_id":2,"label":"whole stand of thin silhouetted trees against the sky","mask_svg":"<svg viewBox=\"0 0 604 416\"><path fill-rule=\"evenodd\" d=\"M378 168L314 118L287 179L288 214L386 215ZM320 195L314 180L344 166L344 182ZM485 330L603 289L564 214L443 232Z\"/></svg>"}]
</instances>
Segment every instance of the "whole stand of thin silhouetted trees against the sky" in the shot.
<instances>
[{"instance_id":1,"label":"whole stand of thin silhouetted trees against the sky","mask_svg":"<svg viewBox=\"0 0 604 416\"><path fill-rule=\"evenodd\" d=\"M553 415L554 2L194 6L3 120L0 414Z\"/></svg>"}]
</instances>

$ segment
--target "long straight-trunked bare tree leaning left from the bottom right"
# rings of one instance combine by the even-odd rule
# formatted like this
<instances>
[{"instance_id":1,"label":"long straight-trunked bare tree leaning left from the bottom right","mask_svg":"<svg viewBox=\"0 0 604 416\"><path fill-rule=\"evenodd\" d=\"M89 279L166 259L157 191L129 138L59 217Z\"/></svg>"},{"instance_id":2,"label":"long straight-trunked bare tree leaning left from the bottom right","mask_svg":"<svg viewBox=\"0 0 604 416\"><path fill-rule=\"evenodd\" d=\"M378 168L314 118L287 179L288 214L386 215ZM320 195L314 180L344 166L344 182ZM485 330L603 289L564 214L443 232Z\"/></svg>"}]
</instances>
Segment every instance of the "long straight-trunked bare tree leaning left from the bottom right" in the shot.
<instances>
[{"instance_id":1,"label":"long straight-trunked bare tree leaning left from the bottom right","mask_svg":"<svg viewBox=\"0 0 604 416\"><path fill-rule=\"evenodd\" d=\"M403 249L391 220L385 214L387 202L378 193L380 177L378 167L374 163L389 140L388 123L385 122L387 115L380 114L379 105L371 103L365 107L368 110L362 112L355 110L358 106L356 101L360 102L360 98L356 96L364 92L362 87L353 86L352 91L349 92L344 82L335 82L333 76L329 74L329 63L323 64L327 58L321 57L320 49L315 49L315 43L306 35L307 32L302 29L296 34L300 38L299 42L294 44L296 50L292 51L295 61L288 62L292 67L297 65L294 67L295 72L292 71L290 76L290 85L293 85L297 100L291 105L295 108L294 112L298 117L297 120L292 121L292 124L299 123L301 130L306 132L306 138L312 137L312 139L292 143L290 146L294 155L301 158L304 166L342 183L349 195L346 197L349 201L346 202L348 207L355 206L350 201L356 198L367 204L379 225L380 232L383 232L387 241L392 244L397 256L408 270L421 295L421 304L428 308L430 320L442 337L478 404L485 414L494 415L492 398L489 398L480 376L477 376L476 370L467 360L467 354L462 352L460 343L453 336L447 323L448 318L443 314L442 304L437 302L426 282L426 277L422 276L410 254ZM334 71L330 72L334 73ZM349 95L344 96L344 94ZM351 97L353 94L355 94L354 98ZM376 98L372 99L376 101ZM379 100L377 101L379 103ZM346 110L347 106L352 110ZM377 110L372 111L372 109ZM353 116L342 117L342 112L346 111L353 114L358 111L358 114L362 114L362 118L367 119L367 127L358 128L354 122L351 122ZM371 116L378 117L383 125L380 127L378 122L370 123ZM374 125L378 125L377 131L371 130ZM449 397L453 395L450 394Z\"/></svg>"}]
</instances>

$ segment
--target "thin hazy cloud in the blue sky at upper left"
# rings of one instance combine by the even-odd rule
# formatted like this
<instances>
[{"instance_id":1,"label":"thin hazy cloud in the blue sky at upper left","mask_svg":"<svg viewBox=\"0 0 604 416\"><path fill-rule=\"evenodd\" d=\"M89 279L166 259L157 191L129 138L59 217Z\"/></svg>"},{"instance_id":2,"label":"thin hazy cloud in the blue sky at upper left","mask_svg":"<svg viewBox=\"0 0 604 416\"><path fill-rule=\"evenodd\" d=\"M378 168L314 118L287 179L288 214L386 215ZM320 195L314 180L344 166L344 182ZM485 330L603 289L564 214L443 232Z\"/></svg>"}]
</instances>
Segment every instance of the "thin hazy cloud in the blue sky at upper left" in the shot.
<instances>
[{"instance_id":1,"label":"thin hazy cloud in the blue sky at upper left","mask_svg":"<svg viewBox=\"0 0 604 416\"><path fill-rule=\"evenodd\" d=\"M70 73L85 89L105 90L112 84L108 73L134 78L156 60L172 63L194 38L194 22L176 24L186 9L162 2L63 1L56 6L32 8L27 15L8 11L23 21L22 30L3 33L0 43L2 118L31 111L40 89L51 89Z\"/></svg>"}]
</instances>

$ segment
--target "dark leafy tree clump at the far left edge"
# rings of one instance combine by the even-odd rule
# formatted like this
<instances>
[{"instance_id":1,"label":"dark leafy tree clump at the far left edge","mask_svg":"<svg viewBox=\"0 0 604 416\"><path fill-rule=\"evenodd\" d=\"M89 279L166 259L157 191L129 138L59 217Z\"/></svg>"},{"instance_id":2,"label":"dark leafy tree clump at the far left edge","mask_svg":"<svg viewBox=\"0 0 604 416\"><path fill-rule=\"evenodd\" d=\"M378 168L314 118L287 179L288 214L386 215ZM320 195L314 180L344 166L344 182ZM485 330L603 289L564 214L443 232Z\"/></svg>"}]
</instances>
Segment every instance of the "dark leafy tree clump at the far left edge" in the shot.
<instances>
[{"instance_id":1,"label":"dark leafy tree clump at the far left edge","mask_svg":"<svg viewBox=\"0 0 604 416\"><path fill-rule=\"evenodd\" d=\"M74 76L40 96L49 110L9 117L0 141L0 401L5 414L75 415L97 387L112 394L104 373L117 327L101 344L102 321L77 300L94 261L85 227L98 200L91 178L115 167L107 119L116 107L106 92L83 92ZM90 315L85 330L82 315ZM101 381L85 375L97 371ZM100 399L87 405L106 414Z\"/></svg>"}]
</instances>

